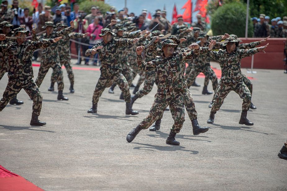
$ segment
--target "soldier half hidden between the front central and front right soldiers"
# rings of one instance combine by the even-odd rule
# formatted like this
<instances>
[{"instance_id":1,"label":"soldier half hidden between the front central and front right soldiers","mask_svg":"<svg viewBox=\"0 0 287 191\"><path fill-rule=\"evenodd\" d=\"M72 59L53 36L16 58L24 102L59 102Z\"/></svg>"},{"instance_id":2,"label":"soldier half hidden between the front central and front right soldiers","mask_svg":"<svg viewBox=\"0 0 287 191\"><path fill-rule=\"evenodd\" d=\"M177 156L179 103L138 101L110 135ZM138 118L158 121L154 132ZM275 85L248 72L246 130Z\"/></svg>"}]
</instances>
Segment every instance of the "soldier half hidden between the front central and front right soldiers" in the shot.
<instances>
[{"instance_id":1,"label":"soldier half hidden between the front central and front right soldiers","mask_svg":"<svg viewBox=\"0 0 287 191\"><path fill-rule=\"evenodd\" d=\"M198 40L200 40L200 42L198 43L199 46L200 47L208 46L209 44L207 42L208 38L209 36L206 33L200 33L199 37L197 38ZM213 90L215 90L218 84L217 76L210 67L210 58L206 54L201 54L199 57L193 60L193 68L191 69L185 80L187 87L189 88L191 84L194 83L195 78L199 75L200 72L202 72L212 81L212 87ZM204 85L202 94L211 94L211 93L207 91L207 85Z\"/></svg>"}]
</instances>

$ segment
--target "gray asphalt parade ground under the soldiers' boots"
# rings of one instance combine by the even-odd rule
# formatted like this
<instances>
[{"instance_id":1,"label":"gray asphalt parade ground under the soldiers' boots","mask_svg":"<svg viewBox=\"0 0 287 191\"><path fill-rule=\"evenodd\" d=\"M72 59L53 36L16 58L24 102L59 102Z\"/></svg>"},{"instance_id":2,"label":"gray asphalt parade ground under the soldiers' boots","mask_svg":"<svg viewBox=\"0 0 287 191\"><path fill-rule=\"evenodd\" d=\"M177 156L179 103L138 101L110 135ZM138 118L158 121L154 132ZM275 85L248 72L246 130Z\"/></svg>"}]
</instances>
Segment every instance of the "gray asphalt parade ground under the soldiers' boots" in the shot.
<instances>
[{"instance_id":1,"label":"gray asphalt parade ground under the soldiers' boots","mask_svg":"<svg viewBox=\"0 0 287 191\"><path fill-rule=\"evenodd\" d=\"M216 63L212 66L219 68ZM35 78L38 70L34 67ZM24 90L18 94L23 105L7 105L0 113L0 165L44 190L287 190L287 161L277 157L287 139L287 75L283 70L256 71L247 74L256 78L252 101L257 109L248 112L253 126L238 124L242 100L235 92L225 99L214 124L207 124L212 95L201 94L203 78L197 78L201 87L190 90L198 122L210 129L194 136L186 114L176 136L180 146L171 146L165 143L173 124L169 111L160 131L143 130L132 143L125 140L147 116L156 86L134 103L137 116L125 116L118 87L115 94L106 89L98 114L89 114L100 72L74 70L71 94L64 70L69 101L57 101L57 93L48 91L50 69L40 87L39 119L46 126L29 125L32 101ZM5 75L0 81L1 93L7 80ZM208 89L212 90L211 82Z\"/></svg>"}]
</instances>

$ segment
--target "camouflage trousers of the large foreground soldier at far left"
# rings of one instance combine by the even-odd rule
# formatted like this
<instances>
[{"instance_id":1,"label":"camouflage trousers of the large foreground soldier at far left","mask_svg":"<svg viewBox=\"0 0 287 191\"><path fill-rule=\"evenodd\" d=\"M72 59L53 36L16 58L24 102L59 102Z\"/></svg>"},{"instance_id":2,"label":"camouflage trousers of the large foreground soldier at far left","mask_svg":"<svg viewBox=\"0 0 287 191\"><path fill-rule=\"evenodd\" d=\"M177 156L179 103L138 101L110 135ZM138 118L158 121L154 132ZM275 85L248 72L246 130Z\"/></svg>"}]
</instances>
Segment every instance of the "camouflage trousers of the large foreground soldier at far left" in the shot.
<instances>
[{"instance_id":1,"label":"camouflage trousers of the large foreground soldier at far left","mask_svg":"<svg viewBox=\"0 0 287 191\"><path fill-rule=\"evenodd\" d=\"M34 114L39 116L42 108L42 94L32 79L9 79L7 87L3 93L3 98L0 100L0 111L6 107L11 98L16 96L21 89L24 89L29 95L30 99L33 101L32 111Z\"/></svg>"}]
</instances>

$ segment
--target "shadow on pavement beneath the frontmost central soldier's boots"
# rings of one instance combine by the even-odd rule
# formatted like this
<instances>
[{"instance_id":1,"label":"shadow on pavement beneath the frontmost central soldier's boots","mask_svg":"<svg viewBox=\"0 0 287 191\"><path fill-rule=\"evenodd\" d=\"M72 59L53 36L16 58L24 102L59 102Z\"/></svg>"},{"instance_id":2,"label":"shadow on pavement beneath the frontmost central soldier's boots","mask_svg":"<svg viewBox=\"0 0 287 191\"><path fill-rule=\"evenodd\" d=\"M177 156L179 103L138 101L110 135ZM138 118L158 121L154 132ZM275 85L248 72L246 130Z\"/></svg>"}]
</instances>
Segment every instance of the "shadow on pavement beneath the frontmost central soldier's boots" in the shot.
<instances>
[{"instance_id":1,"label":"shadow on pavement beneath the frontmost central soldier's boots","mask_svg":"<svg viewBox=\"0 0 287 191\"><path fill-rule=\"evenodd\" d=\"M193 155L198 154L198 151L187 150L187 149L184 149L185 147L180 146L180 145L157 146L157 145L143 144L143 143L134 143L134 144L146 146L146 147L134 147L134 149L143 149L143 150L149 150L149 151L154 151L152 149L157 149L159 151L187 151L187 152L192 152L190 154L193 154Z\"/></svg>"}]
</instances>

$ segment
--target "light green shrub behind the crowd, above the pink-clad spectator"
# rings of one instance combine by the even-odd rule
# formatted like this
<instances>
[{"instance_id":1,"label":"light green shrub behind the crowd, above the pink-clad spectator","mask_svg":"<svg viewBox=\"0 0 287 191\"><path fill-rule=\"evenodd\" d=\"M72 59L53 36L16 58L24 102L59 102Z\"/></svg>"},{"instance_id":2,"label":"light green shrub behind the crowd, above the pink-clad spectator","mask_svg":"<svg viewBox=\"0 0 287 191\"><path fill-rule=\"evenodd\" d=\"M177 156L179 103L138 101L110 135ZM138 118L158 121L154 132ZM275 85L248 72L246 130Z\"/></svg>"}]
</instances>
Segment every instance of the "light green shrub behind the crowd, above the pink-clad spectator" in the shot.
<instances>
[{"instance_id":1,"label":"light green shrub behind the crowd, above the pink-clad spectator","mask_svg":"<svg viewBox=\"0 0 287 191\"><path fill-rule=\"evenodd\" d=\"M80 10L84 11L85 13L89 14L91 13L91 8L92 7L100 7L100 11L104 15L106 11L110 10L110 5L107 3L104 3L102 1L90 1L90 0L85 0L81 1L79 4Z\"/></svg>"}]
</instances>

